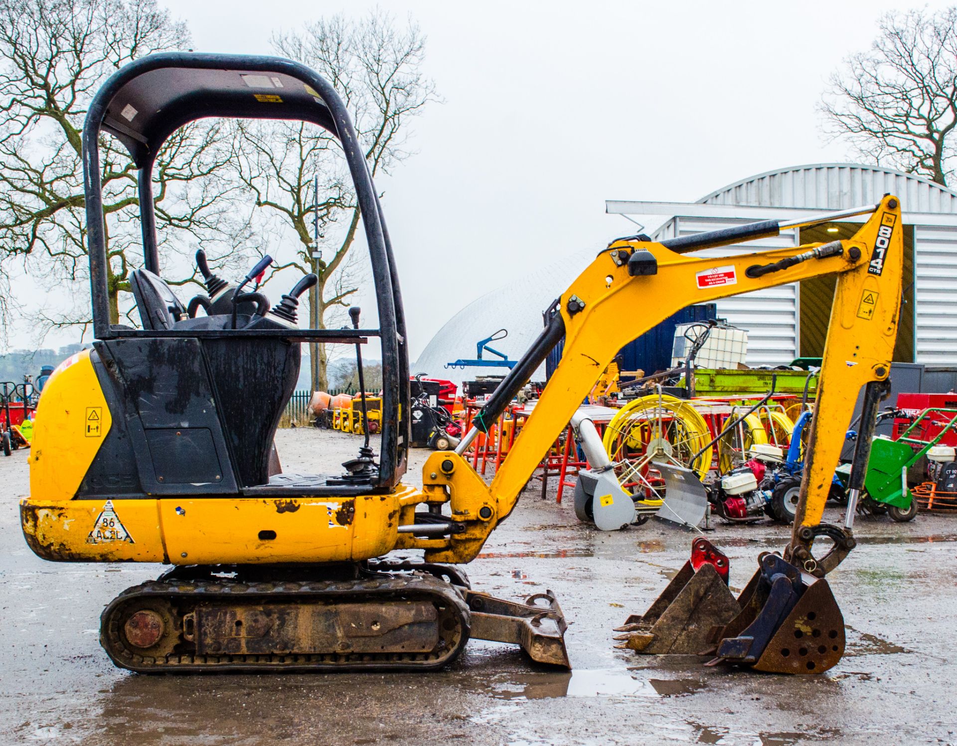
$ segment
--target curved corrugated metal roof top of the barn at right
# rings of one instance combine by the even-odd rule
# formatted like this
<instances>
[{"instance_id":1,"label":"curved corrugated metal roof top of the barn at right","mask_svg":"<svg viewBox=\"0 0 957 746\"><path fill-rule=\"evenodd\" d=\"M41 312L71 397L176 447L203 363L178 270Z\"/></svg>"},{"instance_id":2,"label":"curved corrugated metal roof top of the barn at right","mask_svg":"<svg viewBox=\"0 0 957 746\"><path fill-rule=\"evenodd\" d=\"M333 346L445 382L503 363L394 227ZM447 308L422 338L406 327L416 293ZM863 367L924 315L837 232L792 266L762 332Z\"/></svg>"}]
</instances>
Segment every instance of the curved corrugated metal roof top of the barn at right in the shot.
<instances>
[{"instance_id":1,"label":"curved corrugated metal roof top of the barn at right","mask_svg":"<svg viewBox=\"0 0 957 746\"><path fill-rule=\"evenodd\" d=\"M924 176L880 166L821 163L766 171L698 201L709 205L842 210L897 194L910 213L957 213L957 192Z\"/></svg>"}]
</instances>

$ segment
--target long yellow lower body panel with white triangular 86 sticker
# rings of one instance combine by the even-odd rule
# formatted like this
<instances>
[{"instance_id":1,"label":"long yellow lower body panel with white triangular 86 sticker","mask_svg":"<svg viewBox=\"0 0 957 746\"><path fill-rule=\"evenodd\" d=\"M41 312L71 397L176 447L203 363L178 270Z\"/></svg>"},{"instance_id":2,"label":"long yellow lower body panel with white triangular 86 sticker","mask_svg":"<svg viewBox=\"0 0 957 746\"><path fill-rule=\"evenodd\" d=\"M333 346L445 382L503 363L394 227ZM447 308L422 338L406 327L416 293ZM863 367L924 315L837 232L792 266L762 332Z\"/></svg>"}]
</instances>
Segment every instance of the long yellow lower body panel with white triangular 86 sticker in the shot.
<instances>
[{"instance_id":1,"label":"long yellow lower body panel with white triangular 86 sticker","mask_svg":"<svg viewBox=\"0 0 957 746\"><path fill-rule=\"evenodd\" d=\"M36 499L20 504L24 534L46 559L172 564L342 562L396 545L400 502L342 498ZM105 514L105 519L104 519ZM98 532L99 531L99 532ZM273 537L275 534L275 537Z\"/></svg>"}]
</instances>

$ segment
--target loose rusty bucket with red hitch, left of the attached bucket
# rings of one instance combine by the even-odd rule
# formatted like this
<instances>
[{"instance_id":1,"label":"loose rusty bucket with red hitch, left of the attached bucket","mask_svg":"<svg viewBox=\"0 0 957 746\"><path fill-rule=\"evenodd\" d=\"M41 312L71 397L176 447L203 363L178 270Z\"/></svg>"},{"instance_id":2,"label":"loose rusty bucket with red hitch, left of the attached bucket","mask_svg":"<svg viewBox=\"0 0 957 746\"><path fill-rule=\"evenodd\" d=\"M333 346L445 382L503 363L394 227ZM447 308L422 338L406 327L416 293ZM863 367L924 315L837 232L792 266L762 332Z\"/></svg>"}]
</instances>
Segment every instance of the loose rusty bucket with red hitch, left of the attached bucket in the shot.
<instances>
[{"instance_id":1,"label":"loose rusty bucket with red hitch, left of the attached bucket","mask_svg":"<svg viewBox=\"0 0 957 746\"><path fill-rule=\"evenodd\" d=\"M649 655L703 655L714 647L716 629L741 612L727 587L728 559L704 538L692 542L684 563L643 615L632 615L616 632L616 647Z\"/></svg>"}]
</instances>

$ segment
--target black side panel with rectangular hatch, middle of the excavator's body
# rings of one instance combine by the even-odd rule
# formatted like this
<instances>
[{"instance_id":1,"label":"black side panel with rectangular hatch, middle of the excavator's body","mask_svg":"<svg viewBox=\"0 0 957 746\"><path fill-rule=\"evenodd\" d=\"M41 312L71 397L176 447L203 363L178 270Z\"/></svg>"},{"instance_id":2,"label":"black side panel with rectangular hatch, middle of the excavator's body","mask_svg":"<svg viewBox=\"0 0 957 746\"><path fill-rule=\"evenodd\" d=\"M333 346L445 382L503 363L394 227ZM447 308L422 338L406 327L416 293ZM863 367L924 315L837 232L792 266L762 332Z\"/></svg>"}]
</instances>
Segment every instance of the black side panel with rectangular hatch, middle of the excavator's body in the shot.
<instances>
[{"instance_id":1,"label":"black side panel with rectangular hatch, middle of the excavator's body","mask_svg":"<svg viewBox=\"0 0 957 746\"><path fill-rule=\"evenodd\" d=\"M196 495L235 494L230 451L199 341L120 339L97 343L97 349L122 393L145 492L183 494L182 485L188 484Z\"/></svg>"}]
</instances>

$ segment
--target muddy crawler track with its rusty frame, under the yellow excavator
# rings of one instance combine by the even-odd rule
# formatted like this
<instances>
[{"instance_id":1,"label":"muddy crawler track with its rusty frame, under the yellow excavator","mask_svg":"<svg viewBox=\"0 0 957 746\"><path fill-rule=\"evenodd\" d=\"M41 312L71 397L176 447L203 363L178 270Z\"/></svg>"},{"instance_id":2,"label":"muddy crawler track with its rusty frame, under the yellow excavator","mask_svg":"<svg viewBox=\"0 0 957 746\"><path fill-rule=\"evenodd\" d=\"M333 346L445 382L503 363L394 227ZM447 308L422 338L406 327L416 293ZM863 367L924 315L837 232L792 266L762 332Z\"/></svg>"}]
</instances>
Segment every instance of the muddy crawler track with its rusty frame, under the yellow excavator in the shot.
<instances>
[{"instance_id":1,"label":"muddy crawler track with its rusty frame, under the yellow excavator","mask_svg":"<svg viewBox=\"0 0 957 746\"><path fill-rule=\"evenodd\" d=\"M171 579L129 588L100 619L139 672L434 669L470 636L462 592L431 574L346 580Z\"/></svg>"}]
</instances>

